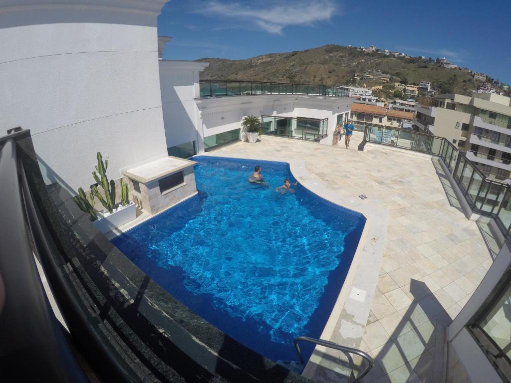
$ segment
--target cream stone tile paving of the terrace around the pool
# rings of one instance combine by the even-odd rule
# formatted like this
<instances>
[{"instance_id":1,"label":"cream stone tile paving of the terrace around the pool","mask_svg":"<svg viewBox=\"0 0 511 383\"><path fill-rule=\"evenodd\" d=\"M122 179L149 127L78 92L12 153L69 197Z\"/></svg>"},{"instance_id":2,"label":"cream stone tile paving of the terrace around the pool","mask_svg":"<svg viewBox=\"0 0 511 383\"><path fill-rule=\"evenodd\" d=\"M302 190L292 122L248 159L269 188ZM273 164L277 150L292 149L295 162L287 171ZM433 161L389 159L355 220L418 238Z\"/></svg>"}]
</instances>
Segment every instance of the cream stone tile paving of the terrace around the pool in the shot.
<instances>
[{"instance_id":1,"label":"cream stone tile paving of the terrace around the pool","mask_svg":"<svg viewBox=\"0 0 511 383\"><path fill-rule=\"evenodd\" d=\"M437 158L377 145L360 152L361 138L355 132L345 149L263 136L255 144L238 142L214 154L303 159L322 186L346 200L365 194L364 203L388 210L377 288L358 344L375 358L363 381L440 382L445 328L473 294L498 248L484 224L464 216ZM313 378L342 381L335 375L333 369Z\"/></svg>"}]
</instances>

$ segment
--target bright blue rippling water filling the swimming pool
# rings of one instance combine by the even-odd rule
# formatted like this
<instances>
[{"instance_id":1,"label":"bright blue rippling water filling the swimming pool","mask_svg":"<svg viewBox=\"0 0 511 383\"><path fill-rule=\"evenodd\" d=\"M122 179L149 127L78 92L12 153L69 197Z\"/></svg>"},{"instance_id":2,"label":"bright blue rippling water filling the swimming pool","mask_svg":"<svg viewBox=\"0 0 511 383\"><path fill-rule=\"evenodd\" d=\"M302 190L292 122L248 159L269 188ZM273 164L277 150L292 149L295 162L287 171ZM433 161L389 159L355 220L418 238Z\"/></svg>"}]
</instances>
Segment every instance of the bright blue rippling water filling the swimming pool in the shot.
<instances>
[{"instance_id":1,"label":"bright blue rippling water filling the swimming pool","mask_svg":"<svg viewBox=\"0 0 511 383\"><path fill-rule=\"evenodd\" d=\"M301 185L289 165L198 156L199 194L113 243L195 313L272 360L297 360L293 339L319 338L365 218ZM269 188L247 178L262 166ZM303 345L308 358L312 347Z\"/></svg>"}]
</instances>

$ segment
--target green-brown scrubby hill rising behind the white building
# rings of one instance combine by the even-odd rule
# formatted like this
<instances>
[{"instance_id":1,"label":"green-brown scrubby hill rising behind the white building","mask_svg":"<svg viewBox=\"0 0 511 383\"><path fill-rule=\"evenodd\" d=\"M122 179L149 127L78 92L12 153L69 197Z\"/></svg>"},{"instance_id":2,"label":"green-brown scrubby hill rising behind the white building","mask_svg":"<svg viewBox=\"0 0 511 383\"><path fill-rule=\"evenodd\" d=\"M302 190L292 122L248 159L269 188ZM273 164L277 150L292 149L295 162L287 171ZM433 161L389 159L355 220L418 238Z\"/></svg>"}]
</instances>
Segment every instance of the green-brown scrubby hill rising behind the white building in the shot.
<instances>
[{"instance_id":1,"label":"green-brown scrubby hill rising behind the white building","mask_svg":"<svg viewBox=\"0 0 511 383\"><path fill-rule=\"evenodd\" d=\"M435 58L433 58L435 59ZM352 78L371 71L375 75L393 76L391 80L419 84L430 81L441 93L470 94L476 88L468 71L445 68L417 57L393 57L364 53L355 47L324 45L304 51L272 53L246 60L203 58L209 62L201 80L273 81L325 85L382 85L378 80ZM392 81L392 82L393 82ZM387 93L391 86L386 86Z\"/></svg>"}]
</instances>

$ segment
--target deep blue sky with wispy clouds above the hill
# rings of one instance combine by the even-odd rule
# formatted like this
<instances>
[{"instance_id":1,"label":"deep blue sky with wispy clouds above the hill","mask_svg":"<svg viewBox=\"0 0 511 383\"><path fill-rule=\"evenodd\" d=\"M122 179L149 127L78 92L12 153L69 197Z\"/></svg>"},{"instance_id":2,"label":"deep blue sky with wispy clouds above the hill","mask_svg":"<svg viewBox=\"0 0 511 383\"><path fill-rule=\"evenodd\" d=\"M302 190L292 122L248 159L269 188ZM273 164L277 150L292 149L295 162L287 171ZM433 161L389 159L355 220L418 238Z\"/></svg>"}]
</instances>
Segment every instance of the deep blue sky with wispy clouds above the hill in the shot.
<instances>
[{"instance_id":1,"label":"deep blue sky with wispy clouds above the hill","mask_svg":"<svg viewBox=\"0 0 511 383\"><path fill-rule=\"evenodd\" d=\"M511 84L511 2L172 0L158 18L164 58L245 59L326 44L443 57Z\"/></svg>"}]
</instances>

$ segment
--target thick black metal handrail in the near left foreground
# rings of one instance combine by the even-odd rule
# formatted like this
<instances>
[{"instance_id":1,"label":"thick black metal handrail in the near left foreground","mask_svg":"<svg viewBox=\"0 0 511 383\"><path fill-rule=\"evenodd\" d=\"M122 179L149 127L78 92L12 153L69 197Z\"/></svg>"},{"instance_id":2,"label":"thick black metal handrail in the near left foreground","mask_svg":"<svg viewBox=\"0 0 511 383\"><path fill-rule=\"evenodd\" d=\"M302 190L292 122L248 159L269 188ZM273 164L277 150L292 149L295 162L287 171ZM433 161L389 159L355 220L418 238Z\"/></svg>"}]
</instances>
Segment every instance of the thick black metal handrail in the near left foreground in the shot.
<instances>
[{"instance_id":1,"label":"thick black metal handrail in the near left foreground","mask_svg":"<svg viewBox=\"0 0 511 383\"><path fill-rule=\"evenodd\" d=\"M42 289L18 180L16 144L4 139L0 156L0 372L19 381L85 382ZM5 296L4 296L5 294Z\"/></svg>"}]
</instances>

